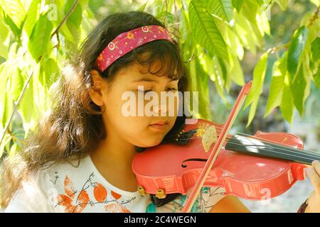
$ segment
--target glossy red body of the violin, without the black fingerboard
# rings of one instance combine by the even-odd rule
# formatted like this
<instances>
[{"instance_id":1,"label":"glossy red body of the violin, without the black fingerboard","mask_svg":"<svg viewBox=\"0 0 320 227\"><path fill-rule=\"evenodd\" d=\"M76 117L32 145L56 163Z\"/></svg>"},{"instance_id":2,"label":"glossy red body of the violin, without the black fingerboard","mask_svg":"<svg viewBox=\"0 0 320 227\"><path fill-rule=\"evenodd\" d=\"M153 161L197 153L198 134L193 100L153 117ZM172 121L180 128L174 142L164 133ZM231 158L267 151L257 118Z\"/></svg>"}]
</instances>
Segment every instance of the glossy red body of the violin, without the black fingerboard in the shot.
<instances>
[{"instance_id":1,"label":"glossy red body of the violin, without the black fingerboard","mask_svg":"<svg viewBox=\"0 0 320 227\"><path fill-rule=\"evenodd\" d=\"M221 125L198 119L186 124L183 131L199 128L222 128ZM217 133L219 134L219 133ZM199 136L200 135L200 136ZM207 135L208 136L208 135ZM148 194L187 194L196 183L210 151L206 152L205 136L195 133L186 145L161 144L147 148L132 162L132 170L140 189ZM249 136L250 138L250 136ZM288 133L263 133L258 131L252 138L272 141L286 148L303 152L303 143ZM204 187L224 187L226 194L245 199L270 199L286 192L297 180L306 178L306 165L272 157L259 157L226 150L225 141L213 167L206 177Z\"/></svg>"}]
</instances>

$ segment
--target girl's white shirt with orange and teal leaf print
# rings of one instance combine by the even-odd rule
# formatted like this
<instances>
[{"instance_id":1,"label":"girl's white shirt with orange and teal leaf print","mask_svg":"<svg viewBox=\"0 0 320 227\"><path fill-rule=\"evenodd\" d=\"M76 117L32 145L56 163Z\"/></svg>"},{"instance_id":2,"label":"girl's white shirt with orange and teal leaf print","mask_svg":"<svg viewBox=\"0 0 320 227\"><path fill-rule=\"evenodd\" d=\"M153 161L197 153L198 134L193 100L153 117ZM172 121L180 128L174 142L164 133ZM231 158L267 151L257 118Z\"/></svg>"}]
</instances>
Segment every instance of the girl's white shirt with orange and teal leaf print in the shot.
<instances>
[{"instance_id":1,"label":"girl's white shirt with orange and teal leaf print","mask_svg":"<svg viewBox=\"0 0 320 227\"><path fill-rule=\"evenodd\" d=\"M224 192L222 187L203 187L191 212L210 211ZM31 174L5 212L181 212L185 200L181 195L156 207L150 196L126 192L107 182L87 155L80 165L58 163Z\"/></svg>"}]
</instances>

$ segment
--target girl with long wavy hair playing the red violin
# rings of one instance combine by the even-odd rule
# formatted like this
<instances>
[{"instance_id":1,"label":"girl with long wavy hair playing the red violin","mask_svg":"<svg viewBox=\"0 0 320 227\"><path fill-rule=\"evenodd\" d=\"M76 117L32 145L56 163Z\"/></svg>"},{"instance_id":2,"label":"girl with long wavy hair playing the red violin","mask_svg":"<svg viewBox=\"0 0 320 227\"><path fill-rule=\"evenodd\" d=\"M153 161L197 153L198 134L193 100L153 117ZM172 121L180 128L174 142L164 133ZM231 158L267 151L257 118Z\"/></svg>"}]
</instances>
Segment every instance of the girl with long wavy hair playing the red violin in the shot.
<instances>
[{"instance_id":1,"label":"girl with long wavy hair playing the red violin","mask_svg":"<svg viewBox=\"0 0 320 227\"><path fill-rule=\"evenodd\" d=\"M122 95L187 87L178 43L164 24L140 11L107 16L63 70L50 115L26 147L4 161L1 205L6 212L181 211L186 196L137 192L132 160L144 148L171 141L185 116L176 109L174 116L124 116ZM166 113L165 107L152 111ZM312 171L317 187L306 211L319 211L319 164ZM223 188L204 187L191 211L248 209Z\"/></svg>"}]
</instances>

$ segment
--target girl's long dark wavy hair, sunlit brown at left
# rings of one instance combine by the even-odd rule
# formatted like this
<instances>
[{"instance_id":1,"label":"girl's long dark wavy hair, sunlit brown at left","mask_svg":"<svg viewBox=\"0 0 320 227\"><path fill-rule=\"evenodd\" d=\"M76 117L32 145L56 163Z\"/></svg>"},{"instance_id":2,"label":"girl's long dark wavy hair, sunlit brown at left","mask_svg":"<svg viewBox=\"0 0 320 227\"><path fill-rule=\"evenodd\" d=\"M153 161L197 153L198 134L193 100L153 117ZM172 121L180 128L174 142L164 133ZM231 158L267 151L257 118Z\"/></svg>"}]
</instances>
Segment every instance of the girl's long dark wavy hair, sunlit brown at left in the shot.
<instances>
[{"instance_id":1,"label":"girl's long dark wavy hair, sunlit brown at left","mask_svg":"<svg viewBox=\"0 0 320 227\"><path fill-rule=\"evenodd\" d=\"M41 119L28 138L23 140L22 148L17 155L4 159L0 185L2 207L9 204L11 197L31 171L48 167L47 163L79 161L92 153L97 148L98 142L107 136L100 106L94 104L88 94L93 86L90 72L98 70L95 67L97 56L117 35L151 25L166 28L171 33L174 43L168 40L146 43L120 57L100 74L107 81L112 81L118 70L134 61L142 65L152 65L155 60L161 60L162 67L159 71L151 73L179 79L178 90L181 92L188 90L188 73L181 60L177 28L161 23L151 14L142 11L114 13L107 16L87 36L75 55L66 60L50 97L52 103L50 114ZM142 57L144 52L149 53L148 59ZM170 57L169 67L165 63L167 57ZM184 118L184 115L177 117L174 127L162 143L174 142L172 138L183 126ZM137 152L143 150L137 148ZM168 196L167 199L156 199L153 195L151 197L156 206L161 206L177 195Z\"/></svg>"}]
</instances>

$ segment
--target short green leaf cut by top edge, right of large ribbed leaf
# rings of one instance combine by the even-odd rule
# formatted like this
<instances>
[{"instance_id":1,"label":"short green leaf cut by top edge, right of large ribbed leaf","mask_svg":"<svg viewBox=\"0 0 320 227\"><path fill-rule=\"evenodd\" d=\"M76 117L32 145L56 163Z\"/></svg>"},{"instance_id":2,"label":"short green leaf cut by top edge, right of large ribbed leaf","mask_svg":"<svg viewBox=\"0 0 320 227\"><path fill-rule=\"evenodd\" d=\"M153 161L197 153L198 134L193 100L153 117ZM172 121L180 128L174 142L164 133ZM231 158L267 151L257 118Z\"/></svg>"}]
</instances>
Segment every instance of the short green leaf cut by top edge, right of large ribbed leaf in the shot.
<instances>
[{"instance_id":1,"label":"short green leaf cut by top edge, right of large ribbed leaf","mask_svg":"<svg viewBox=\"0 0 320 227\"><path fill-rule=\"evenodd\" d=\"M230 22L233 19L231 0L209 0L207 1L207 9L210 13L223 19L223 21Z\"/></svg>"}]
</instances>

